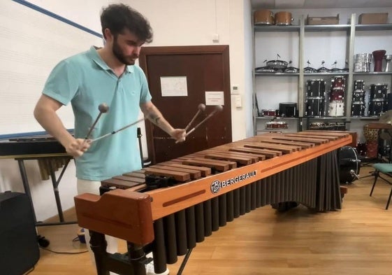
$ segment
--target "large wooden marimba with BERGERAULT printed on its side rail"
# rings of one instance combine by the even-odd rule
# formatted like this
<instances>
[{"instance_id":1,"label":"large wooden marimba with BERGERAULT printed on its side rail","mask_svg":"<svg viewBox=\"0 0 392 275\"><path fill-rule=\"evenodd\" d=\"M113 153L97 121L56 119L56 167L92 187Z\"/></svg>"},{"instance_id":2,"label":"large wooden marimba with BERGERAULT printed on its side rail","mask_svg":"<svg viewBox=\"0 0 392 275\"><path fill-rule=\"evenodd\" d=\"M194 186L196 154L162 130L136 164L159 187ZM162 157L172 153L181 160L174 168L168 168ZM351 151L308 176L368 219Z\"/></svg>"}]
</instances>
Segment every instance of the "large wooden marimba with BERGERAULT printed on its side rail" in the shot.
<instances>
[{"instance_id":1,"label":"large wooden marimba with BERGERAULT printed on its side rail","mask_svg":"<svg viewBox=\"0 0 392 275\"><path fill-rule=\"evenodd\" d=\"M264 134L103 181L115 189L75 197L98 274L145 274L140 258L145 260L143 246L149 244L155 272L164 272L177 255L189 256L197 242L260 206L295 202L315 211L341 209L336 151L351 141L348 132ZM150 190L151 176L172 181ZM129 255L106 253L103 234L126 240Z\"/></svg>"}]
</instances>

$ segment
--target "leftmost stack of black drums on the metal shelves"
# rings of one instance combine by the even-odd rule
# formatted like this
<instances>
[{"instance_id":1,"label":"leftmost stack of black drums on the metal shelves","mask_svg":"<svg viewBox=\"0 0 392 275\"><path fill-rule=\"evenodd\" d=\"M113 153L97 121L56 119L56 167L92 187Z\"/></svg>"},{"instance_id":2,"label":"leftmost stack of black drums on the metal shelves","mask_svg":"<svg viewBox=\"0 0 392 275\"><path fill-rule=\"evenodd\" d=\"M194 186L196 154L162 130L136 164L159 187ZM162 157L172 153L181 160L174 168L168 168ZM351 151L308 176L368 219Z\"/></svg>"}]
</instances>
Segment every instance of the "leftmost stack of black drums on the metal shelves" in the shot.
<instances>
[{"instance_id":1,"label":"leftmost stack of black drums on the metal shelves","mask_svg":"<svg viewBox=\"0 0 392 275\"><path fill-rule=\"evenodd\" d=\"M321 117L325 115L326 81L312 79L306 81L306 110L305 115Z\"/></svg>"}]
</instances>

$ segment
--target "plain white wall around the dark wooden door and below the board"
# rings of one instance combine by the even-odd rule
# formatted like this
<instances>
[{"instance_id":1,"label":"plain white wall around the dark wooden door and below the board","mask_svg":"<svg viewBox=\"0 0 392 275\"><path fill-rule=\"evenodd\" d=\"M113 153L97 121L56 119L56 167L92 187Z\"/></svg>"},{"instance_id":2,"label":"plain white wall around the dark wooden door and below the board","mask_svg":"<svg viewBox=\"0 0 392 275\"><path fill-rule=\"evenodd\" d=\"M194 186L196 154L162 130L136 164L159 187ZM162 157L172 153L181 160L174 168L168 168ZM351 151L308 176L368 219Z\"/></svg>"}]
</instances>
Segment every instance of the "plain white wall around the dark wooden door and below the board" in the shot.
<instances>
[{"instance_id":1,"label":"plain white wall around the dark wooden door and below the board","mask_svg":"<svg viewBox=\"0 0 392 275\"><path fill-rule=\"evenodd\" d=\"M101 8L107 6L108 3L119 1L30 0L29 2L101 33L99 22ZM235 108L233 102L231 104L233 140L251 135L252 116L245 112L249 110L249 106L252 106L252 66L247 64L247 62L252 62L252 52L249 50L251 41L248 39L252 33L249 31L251 29L249 1L129 0L122 2L136 8L150 20L154 30L154 41L150 46L229 45L231 83L240 87L239 93L244 104L242 108ZM247 18L247 22L244 22L244 17ZM247 39L244 38L245 31L247 31ZM219 34L219 43L212 42L214 34ZM246 55L244 52L247 52ZM147 155L146 151L144 153ZM37 219L45 220L55 216L57 208L51 181L41 181L36 161L25 163ZM0 160L0 174L0 192L5 190L23 192L15 160ZM57 172L58 175L59 172ZM63 209L73 206L73 197L76 194L74 175L75 167L71 161L59 184Z\"/></svg>"}]
</instances>

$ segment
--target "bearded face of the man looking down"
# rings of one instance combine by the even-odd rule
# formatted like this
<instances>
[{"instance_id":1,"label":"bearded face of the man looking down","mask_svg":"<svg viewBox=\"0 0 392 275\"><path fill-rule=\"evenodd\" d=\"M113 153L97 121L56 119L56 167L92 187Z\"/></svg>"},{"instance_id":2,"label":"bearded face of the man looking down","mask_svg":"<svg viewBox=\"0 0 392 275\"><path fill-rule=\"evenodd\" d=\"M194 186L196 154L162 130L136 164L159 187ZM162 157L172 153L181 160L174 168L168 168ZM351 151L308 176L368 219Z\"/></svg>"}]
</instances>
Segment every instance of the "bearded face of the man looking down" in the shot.
<instances>
[{"instance_id":1,"label":"bearded face of the man looking down","mask_svg":"<svg viewBox=\"0 0 392 275\"><path fill-rule=\"evenodd\" d=\"M133 65L139 57L140 48L144 42L131 34L128 30L117 34L113 39L112 52L115 57L126 65Z\"/></svg>"}]
</instances>

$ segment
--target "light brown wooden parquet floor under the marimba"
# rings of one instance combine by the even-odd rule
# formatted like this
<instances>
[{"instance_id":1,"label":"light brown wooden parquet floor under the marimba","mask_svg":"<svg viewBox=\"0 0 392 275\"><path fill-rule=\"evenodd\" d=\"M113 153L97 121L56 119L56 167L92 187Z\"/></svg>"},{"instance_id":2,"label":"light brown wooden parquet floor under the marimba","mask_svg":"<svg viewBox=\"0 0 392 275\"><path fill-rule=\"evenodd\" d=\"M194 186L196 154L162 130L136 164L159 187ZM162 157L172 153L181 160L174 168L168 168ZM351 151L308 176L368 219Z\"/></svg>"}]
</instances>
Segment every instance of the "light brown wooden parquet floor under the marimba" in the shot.
<instances>
[{"instance_id":1,"label":"light brown wooden parquet floor under the marimba","mask_svg":"<svg viewBox=\"0 0 392 275\"><path fill-rule=\"evenodd\" d=\"M370 167L361 168L361 177ZM270 206L235 219L197 244L184 275L391 275L392 206L385 210L391 185L379 181L369 197L372 177L354 181L343 209L312 213L303 206L278 213ZM68 211L67 220L75 218ZM38 227L52 251L78 253L78 225ZM120 251L125 242L119 241ZM177 274L180 262L169 265ZM93 275L88 253L66 255L41 249L32 275Z\"/></svg>"}]
</instances>

